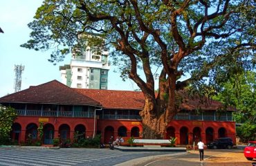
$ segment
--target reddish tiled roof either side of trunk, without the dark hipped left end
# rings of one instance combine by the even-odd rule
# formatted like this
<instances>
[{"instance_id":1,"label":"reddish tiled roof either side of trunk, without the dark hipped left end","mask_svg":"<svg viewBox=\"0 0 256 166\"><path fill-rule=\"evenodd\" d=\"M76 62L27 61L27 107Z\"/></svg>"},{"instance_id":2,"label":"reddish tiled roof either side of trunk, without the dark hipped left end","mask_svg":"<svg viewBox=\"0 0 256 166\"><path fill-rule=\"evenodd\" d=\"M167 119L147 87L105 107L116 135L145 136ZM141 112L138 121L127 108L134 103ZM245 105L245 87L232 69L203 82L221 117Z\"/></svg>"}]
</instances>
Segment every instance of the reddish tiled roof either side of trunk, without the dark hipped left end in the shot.
<instances>
[{"instance_id":1,"label":"reddish tiled roof either side of trunk, without the dark hipped left end","mask_svg":"<svg viewBox=\"0 0 256 166\"><path fill-rule=\"evenodd\" d=\"M75 89L75 91L89 96L93 100L97 100L102 104L104 109L143 109L145 97L141 91L114 91L99 89ZM223 105L216 100L205 98L205 102L201 102L199 98L189 98L182 91L179 93L183 96L183 103L180 109L194 110L217 110ZM234 109L228 108L228 111Z\"/></svg>"}]
</instances>

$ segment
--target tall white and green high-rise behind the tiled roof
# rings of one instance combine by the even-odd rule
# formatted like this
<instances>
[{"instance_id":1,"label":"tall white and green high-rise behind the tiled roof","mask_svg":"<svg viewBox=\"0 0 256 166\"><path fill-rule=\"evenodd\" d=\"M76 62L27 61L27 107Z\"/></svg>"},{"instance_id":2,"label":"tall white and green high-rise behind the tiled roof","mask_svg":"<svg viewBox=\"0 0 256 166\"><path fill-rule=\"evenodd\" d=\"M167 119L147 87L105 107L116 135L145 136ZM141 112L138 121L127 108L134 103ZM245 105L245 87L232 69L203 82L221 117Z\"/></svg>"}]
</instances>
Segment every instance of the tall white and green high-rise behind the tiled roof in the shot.
<instances>
[{"instance_id":1,"label":"tall white and green high-rise behind the tiled roof","mask_svg":"<svg viewBox=\"0 0 256 166\"><path fill-rule=\"evenodd\" d=\"M82 37L80 42L82 47L73 49L71 64L60 66L62 83L71 88L108 89L109 50L95 51Z\"/></svg>"}]
</instances>

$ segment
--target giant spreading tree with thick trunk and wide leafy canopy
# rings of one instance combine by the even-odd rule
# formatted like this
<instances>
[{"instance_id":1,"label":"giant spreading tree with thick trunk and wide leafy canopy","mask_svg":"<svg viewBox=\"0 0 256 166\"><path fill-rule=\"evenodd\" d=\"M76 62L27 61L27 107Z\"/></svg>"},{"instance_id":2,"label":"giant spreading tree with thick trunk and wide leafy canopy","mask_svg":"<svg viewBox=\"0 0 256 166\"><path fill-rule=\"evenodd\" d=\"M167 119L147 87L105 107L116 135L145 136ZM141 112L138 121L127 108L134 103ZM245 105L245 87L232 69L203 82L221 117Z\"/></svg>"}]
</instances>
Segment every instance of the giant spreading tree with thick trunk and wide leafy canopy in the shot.
<instances>
[{"instance_id":1,"label":"giant spreading tree with thick trunk and wide leafy canopy","mask_svg":"<svg viewBox=\"0 0 256 166\"><path fill-rule=\"evenodd\" d=\"M115 48L111 55L121 76L136 82L145 95L140 111L145 138L165 133L179 111L177 90L214 84L222 77L217 73L231 70L227 63L239 68L255 64L253 0L45 0L28 26L32 39L22 46L54 48L51 62L59 62L72 48L80 50L81 34L95 48ZM191 77L180 81L186 74ZM159 80L157 95L154 77Z\"/></svg>"}]
</instances>

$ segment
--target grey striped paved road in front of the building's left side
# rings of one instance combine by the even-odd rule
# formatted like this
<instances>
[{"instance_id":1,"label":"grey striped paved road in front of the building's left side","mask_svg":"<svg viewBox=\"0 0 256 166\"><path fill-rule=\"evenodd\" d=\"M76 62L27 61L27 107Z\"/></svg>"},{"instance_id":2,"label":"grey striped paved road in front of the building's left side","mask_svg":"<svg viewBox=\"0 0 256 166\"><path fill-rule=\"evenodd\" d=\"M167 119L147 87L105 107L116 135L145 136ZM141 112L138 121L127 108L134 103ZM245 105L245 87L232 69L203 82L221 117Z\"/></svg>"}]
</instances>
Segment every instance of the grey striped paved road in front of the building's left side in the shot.
<instances>
[{"instance_id":1,"label":"grey striped paved road in front of the building's left side","mask_svg":"<svg viewBox=\"0 0 256 166\"><path fill-rule=\"evenodd\" d=\"M8 149L0 148L0 165L54 166L100 165L109 166L134 158L170 152L123 152L110 149Z\"/></svg>"}]
</instances>

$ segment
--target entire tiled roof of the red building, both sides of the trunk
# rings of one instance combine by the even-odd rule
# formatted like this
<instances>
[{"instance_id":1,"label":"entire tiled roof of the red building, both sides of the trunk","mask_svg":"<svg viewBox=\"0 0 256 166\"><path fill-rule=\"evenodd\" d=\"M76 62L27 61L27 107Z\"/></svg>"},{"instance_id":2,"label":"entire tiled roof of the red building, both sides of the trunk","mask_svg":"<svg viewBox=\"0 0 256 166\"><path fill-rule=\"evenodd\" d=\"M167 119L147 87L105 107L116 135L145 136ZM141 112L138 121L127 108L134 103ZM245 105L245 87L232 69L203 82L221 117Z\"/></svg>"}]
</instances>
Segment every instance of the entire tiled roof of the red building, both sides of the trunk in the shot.
<instances>
[{"instance_id":1,"label":"entire tiled roof of the red building, both sides of the trunk","mask_svg":"<svg viewBox=\"0 0 256 166\"><path fill-rule=\"evenodd\" d=\"M201 102L199 98L189 98L183 91L179 92L183 96L183 103L180 109L194 110L217 110L222 107L221 102L207 100ZM115 91L100 89L71 89L68 86L53 80L30 86L29 89L12 93L0 98L0 102L26 102L44 104L80 104L95 105L104 109L143 109L145 97L141 91ZM228 107L228 111L234 108Z\"/></svg>"}]
</instances>

